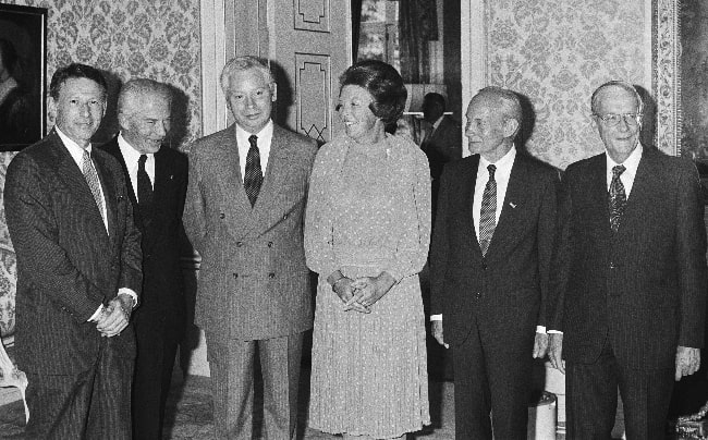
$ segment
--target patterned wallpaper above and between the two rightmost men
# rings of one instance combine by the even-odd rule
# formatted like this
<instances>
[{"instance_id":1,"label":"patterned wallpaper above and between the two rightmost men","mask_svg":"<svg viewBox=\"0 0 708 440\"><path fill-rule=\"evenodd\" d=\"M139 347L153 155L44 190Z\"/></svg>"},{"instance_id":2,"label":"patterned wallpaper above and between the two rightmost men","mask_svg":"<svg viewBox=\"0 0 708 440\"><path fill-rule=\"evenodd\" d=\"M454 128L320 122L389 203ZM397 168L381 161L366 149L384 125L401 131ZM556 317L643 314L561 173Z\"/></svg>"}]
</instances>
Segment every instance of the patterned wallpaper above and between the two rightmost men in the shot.
<instances>
[{"instance_id":1,"label":"patterned wallpaper above and between the two rightmost men","mask_svg":"<svg viewBox=\"0 0 708 440\"><path fill-rule=\"evenodd\" d=\"M487 83L526 96L533 155L562 169L602 151L593 90L609 80L642 84L646 57L639 0L487 1Z\"/></svg>"}]
</instances>

